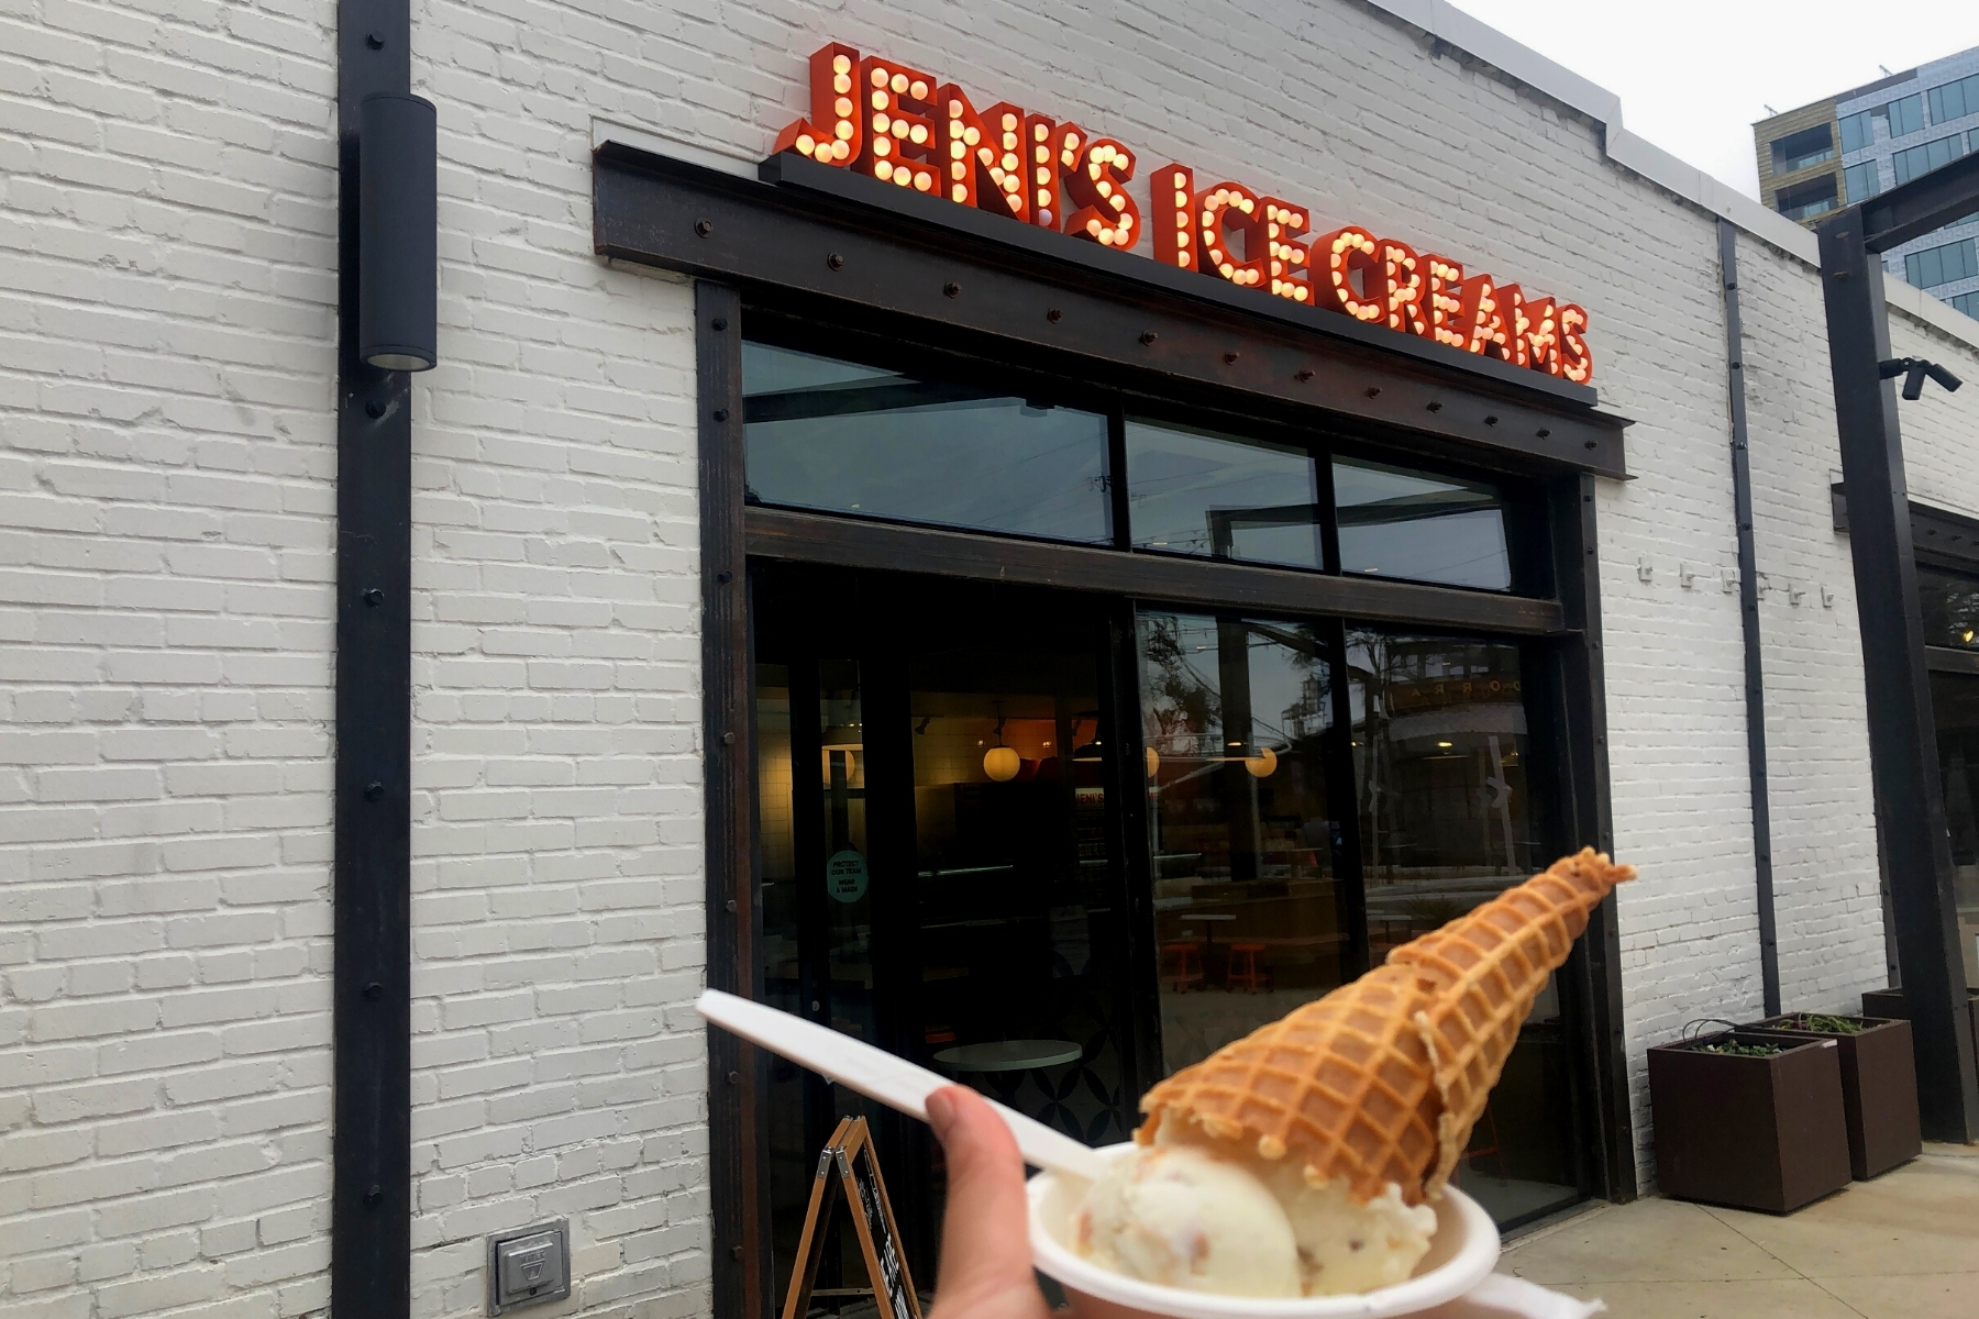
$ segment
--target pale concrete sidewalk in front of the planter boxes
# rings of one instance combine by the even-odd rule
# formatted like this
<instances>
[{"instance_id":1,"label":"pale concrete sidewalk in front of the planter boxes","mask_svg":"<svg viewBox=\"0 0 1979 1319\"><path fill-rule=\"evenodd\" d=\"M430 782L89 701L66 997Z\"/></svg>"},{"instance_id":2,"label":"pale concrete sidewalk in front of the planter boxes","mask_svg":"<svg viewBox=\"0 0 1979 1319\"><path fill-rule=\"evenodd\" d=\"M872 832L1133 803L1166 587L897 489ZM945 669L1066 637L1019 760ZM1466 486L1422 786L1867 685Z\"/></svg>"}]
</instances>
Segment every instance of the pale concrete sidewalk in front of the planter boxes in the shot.
<instances>
[{"instance_id":1,"label":"pale concrete sidewalk in front of the planter boxes","mask_svg":"<svg viewBox=\"0 0 1979 1319\"><path fill-rule=\"evenodd\" d=\"M1498 1272L1601 1297L1615 1319L1973 1319L1979 1147L1926 1145L1787 1218L1597 1208L1512 1242Z\"/></svg>"}]
</instances>

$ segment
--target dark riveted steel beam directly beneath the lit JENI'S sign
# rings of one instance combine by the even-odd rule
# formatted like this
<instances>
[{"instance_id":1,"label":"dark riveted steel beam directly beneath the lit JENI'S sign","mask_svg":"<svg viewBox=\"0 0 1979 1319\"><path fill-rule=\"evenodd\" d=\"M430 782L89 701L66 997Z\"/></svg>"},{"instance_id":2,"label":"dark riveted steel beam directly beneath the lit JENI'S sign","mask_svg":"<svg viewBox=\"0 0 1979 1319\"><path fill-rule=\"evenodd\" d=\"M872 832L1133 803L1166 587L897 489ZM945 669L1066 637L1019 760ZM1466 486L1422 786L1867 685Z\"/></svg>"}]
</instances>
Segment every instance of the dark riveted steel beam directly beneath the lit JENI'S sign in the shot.
<instances>
[{"instance_id":1,"label":"dark riveted steel beam directly beneath the lit JENI'S sign","mask_svg":"<svg viewBox=\"0 0 1979 1319\"><path fill-rule=\"evenodd\" d=\"M896 188L847 182L896 202ZM600 255L736 283L744 297L904 316L982 356L1043 354L1059 370L1073 358L1150 396L1185 388L1225 405L1324 409L1338 429L1415 435L1470 461L1627 475L1629 421L1591 407L1577 386L1011 220L984 218L978 233L968 208L928 206L940 210L906 214L606 146L594 225ZM1183 279L1199 289L1166 283Z\"/></svg>"}]
</instances>

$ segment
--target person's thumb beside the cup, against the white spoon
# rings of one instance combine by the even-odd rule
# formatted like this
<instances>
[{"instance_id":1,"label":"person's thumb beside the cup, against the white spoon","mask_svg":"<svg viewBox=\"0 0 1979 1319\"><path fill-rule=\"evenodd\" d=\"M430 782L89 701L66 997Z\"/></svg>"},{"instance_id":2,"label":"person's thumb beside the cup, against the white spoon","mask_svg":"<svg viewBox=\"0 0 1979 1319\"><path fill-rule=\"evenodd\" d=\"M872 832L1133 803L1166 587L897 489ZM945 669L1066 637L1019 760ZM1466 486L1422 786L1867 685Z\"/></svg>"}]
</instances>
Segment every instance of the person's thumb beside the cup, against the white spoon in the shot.
<instances>
[{"instance_id":1,"label":"person's thumb beside the cup, against the white spoon","mask_svg":"<svg viewBox=\"0 0 1979 1319\"><path fill-rule=\"evenodd\" d=\"M964 1086L928 1096L928 1125L948 1155L940 1311L974 1313L978 1305L1019 1299L1031 1299L1043 1311L1031 1277L1023 1157L1009 1127Z\"/></svg>"}]
</instances>

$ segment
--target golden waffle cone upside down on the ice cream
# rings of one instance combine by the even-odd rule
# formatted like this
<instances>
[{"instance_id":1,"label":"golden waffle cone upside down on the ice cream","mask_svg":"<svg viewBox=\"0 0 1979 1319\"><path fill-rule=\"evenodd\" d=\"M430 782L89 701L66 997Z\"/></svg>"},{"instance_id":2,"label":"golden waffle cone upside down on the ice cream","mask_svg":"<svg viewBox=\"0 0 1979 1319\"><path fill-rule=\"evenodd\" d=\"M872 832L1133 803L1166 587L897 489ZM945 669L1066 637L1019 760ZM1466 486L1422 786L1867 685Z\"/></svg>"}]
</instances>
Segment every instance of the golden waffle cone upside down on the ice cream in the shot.
<instances>
[{"instance_id":1,"label":"golden waffle cone upside down on the ice cream","mask_svg":"<svg viewBox=\"0 0 1979 1319\"><path fill-rule=\"evenodd\" d=\"M1409 1204L1441 1194L1546 977L1633 876L1591 848L1561 858L1160 1082L1136 1139L1170 1119L1263 1159L1296 1157L1364 1202L1387 1183Z\"/></svg>"}]
</instances>

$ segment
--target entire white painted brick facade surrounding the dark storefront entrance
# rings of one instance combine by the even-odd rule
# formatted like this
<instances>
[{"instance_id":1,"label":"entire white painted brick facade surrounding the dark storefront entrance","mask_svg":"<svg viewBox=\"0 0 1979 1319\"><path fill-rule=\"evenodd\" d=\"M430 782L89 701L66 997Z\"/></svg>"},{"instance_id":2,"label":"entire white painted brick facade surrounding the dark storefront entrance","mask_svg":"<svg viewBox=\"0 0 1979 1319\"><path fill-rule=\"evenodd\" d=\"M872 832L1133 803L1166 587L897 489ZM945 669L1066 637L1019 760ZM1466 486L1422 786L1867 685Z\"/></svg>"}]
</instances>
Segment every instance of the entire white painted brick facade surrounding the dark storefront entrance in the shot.
<instances>
[{"instance_id":1,"label":"entire white painted brick facade surrounding the dark storefront entrance","mask_svg":"<svg viewBox=\"0 0 1979 1319\"><path fill-rule=\"evenodd\" d=\"M8 1319L325 1305L332 32L330 0L0 0ZM422 0L418 1313L479 1313L483 1234L548 1216L560 1313L708 1309L693 295L592 257L590 142L754 162L833 38L1589 307L1639 421L1599 516L1647 1169L1643 1048L1759 1001L1708 214L1356 0ZM1819 289L1742 261L1785 995L1846 1007L1882 929ZM1894 332L1979 380L1971 344ZM1906 405L1918 498L1979 508L1965 415Z\"/></svg>"}]
</instances>

